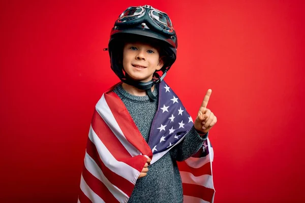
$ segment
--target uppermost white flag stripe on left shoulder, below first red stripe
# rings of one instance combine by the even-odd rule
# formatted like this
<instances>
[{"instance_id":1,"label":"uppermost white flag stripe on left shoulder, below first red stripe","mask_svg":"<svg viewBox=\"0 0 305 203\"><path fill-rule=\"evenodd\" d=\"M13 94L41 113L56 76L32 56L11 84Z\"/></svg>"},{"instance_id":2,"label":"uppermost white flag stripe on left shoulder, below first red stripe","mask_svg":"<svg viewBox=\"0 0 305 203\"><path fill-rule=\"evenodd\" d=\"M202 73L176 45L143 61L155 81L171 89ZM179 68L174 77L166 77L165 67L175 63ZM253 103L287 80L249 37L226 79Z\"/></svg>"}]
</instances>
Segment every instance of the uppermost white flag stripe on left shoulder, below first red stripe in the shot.
<instances>
[{"instance_id":1,"label":"uppermost white flag stripe on left shoulder, below first red stripe","mask_svg":"<svg viewBox=\"0 0 305 203\"><path fill-rule=\"evenodd\" d=\"M133 145L131 145L124 136L123 131L120 129L119 125L117 124L107 104L104 94L102 95L102 98L98 101L96 105L96 110L103 118L105 123L110 127L110 129L115 134L119 142L126 148L126 150L130 153L131 156L134 157L141 154L141 152L137 150Z\"/></svg>"}]
</instances>

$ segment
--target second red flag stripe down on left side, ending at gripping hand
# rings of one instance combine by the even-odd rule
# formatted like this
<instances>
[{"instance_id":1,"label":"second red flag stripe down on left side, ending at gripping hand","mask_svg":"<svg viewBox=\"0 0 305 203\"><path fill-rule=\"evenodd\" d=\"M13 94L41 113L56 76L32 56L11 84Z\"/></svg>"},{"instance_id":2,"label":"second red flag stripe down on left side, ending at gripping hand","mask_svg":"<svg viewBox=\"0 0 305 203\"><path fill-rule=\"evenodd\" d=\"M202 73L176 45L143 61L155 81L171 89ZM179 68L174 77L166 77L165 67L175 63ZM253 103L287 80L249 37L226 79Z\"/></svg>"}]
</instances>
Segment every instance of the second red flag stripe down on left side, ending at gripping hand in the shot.
<instances>
[{"instance_id":1,"label":"second red flag stripe down on left side, ending at gripping hand","mask_svg":"<svg viewBox=\"0 0 305 203\"><path fill-rule=\"evenodd\" d=\"M139 172L142 171L147 158L142 155L132 157L97 111L94 112L91 125L99 139L116 160L130 165Z\"/></svg>"}]
</instances>

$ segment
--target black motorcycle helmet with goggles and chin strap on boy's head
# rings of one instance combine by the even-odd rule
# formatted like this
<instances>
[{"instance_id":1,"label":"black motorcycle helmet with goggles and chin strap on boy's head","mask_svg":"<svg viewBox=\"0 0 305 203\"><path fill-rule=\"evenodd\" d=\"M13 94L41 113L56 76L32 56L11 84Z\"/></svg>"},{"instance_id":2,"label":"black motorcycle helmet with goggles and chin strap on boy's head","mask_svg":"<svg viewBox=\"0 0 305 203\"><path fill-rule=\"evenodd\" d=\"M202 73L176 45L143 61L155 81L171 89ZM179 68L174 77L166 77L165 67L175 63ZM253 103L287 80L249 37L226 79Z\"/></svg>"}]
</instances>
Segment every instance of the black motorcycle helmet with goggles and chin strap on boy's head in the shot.
<instances>
[{"instance_id":1,"label":"black motorcycle helmet with goggles and chin strap on boy's head","mask_svg":"<svg viewBox=\"0 0 305 203\"><path fill-rule=\"evenodd\" d=\"M160 55L164 57L164 65L160 71L154 73L153 80L149 82L133 80L124 71L124 43L132 41L150 42L161 48ZM175 62L177 46L176 33L166 13L148 5L129 7L118 17L111 29L108 44L111 69L122 82L146 90L149 98L155 99L151 87L163 80Z\"/></svg>"}]
</instances>

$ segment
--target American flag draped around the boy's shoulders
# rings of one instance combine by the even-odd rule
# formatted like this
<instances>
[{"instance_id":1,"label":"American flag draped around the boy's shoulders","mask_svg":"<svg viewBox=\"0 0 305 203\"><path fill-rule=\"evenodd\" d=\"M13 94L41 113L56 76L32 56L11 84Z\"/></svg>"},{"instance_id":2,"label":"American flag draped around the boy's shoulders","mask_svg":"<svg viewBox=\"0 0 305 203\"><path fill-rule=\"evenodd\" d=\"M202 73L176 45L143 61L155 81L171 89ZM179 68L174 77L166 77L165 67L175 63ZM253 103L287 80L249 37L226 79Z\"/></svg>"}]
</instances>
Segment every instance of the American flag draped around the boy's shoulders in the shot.
<instances>
[{"instance_id":1,"label":"American flag draped around the boy's shoulders","mask_svg":"<svg viewBox=\"0 0 305 203\"><path fill-rule=\"evenodd\" d=\"M112 91L115 86L102 95L92 118L78 196L81 203L127 202L147 157L154 164L193 126L178 96L162 81L147 145L123 101ZM213 156L207 139L193 157L178 162L184 202L213 202Z\"/></svg>"}]
</instances>

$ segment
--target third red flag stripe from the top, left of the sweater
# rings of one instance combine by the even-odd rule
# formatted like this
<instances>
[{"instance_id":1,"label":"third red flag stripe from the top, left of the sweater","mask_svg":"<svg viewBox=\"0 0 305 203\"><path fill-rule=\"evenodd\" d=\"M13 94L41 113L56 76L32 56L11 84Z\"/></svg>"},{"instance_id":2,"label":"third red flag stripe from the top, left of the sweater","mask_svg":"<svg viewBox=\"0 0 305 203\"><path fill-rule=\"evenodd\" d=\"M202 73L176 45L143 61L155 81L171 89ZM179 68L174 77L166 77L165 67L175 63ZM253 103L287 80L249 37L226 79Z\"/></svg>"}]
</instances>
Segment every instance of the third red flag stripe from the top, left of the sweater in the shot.
<instances>
[{"instance_id":1,"label":"third red flag stripe from the top, left of the sweater","mask_svg":"<svg viewBox=\"0 0 305 203\"><path fill-rule=\"evenodd\" d=\"M112 172L102 161L102 159L99 156L99 153L97 151L96 146L94 143L88 139L87 142L87 153L91 158L94 159L94 161L98 164L98 166L101 168L103 174L105 177L116 187L118 187L120 190L122 190L124 193L126 193L128 196L131 195L132 190L134 188L134 185L126 180L125 178L118 176L116 173Z\"/></svg>"}]
</instances>

